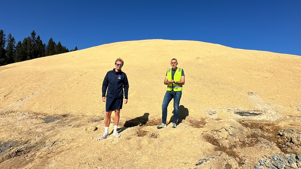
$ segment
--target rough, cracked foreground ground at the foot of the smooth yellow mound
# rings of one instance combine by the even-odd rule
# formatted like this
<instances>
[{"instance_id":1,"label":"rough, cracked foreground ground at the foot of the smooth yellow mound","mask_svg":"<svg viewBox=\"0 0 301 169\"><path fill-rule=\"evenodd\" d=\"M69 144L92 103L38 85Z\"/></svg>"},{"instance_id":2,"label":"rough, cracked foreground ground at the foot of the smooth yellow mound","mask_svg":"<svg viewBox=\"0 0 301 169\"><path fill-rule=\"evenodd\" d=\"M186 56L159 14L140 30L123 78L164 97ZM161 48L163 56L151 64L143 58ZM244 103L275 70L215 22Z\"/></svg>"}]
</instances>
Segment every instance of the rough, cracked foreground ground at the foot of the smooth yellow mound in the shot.
<instances>
[{"instance_id":1,"label":"rough, cracked foreground ground at the foot of the smooth yellow mound","mask_svg":"<svg viewBox=\"0 0 301 169\"><path fill-rule=\"evenodd\" d=\"M299 117L185 119L158 130L147 116L122 119L121 137L100 141L104 117L2 112L0 168L301 167Z\"/></svg>"}]
</instances>

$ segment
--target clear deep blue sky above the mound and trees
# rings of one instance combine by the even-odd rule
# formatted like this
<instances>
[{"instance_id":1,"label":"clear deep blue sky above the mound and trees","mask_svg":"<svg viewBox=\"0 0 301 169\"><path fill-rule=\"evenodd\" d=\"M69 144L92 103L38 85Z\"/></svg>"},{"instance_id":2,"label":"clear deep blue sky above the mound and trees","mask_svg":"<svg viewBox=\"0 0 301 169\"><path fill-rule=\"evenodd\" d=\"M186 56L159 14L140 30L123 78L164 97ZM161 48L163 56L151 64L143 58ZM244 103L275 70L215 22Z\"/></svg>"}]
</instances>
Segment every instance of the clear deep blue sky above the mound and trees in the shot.
<instances>
[{"instance_id":1,"label":"clear deep blue sky above the mound and trees","mask_svg":"<svg viewBox=\"0 0 301 169\"><path fill-rule=\"evenodd\" d=\"M301 56L301 1L2 1L0 29L35 30L69 49L143 39L194 40Z\"/></svg>"}]
</instances>

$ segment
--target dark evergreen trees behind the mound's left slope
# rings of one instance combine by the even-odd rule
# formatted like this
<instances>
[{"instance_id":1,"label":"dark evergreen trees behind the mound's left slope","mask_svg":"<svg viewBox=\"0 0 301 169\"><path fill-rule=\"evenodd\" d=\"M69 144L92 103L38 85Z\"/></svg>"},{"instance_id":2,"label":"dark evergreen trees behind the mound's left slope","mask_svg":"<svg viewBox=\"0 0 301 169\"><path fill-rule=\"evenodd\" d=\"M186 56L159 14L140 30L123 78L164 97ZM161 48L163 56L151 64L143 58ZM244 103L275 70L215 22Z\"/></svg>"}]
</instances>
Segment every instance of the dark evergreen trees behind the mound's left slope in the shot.
<instances>
[{"instance_id":1,"label":"dark evergreen trees behind the mound's left slope","mask_svg":"<svg viewBox=\"0 0 301 169\"><path fill-rule=\"evenodd\" d=\"M0 66L71 51L77 51L77 47L69 51L66 46L61 44L61 41L56 44L52 38L49 39L47 45L43 44L40 35L36 37L35 31L31 32L30 37L24 38L22 42L18 41L16 45L15 38L11 33L6 38L4 31L0 30Z\"/></svg>"}]
</instances>

